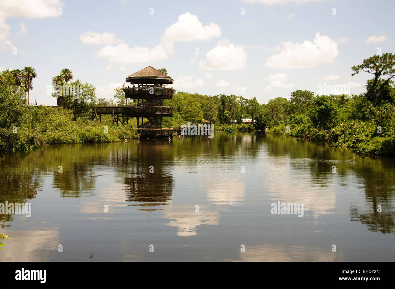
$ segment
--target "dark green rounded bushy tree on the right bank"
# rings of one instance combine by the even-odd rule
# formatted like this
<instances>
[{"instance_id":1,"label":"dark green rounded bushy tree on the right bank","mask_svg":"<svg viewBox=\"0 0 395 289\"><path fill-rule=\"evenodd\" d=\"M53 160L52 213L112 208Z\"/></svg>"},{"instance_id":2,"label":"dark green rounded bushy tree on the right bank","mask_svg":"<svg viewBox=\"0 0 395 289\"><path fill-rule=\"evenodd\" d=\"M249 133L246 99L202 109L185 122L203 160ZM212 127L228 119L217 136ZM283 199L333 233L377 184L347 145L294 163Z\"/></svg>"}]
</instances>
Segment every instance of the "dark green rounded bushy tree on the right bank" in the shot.
<instances>
[{"instance_id":1,"label":"dark green rounded bushy tree on the right bank","mask_svg":"<svg viewBox=\"0 0 395 289\"><path fill-rule=\"evenodd\" d=\"M334 103L331 103L327 95L315 97L307 112L308 117L316 127L331 129L335 123L337 110Z\"/></svg>"}]
</instances>

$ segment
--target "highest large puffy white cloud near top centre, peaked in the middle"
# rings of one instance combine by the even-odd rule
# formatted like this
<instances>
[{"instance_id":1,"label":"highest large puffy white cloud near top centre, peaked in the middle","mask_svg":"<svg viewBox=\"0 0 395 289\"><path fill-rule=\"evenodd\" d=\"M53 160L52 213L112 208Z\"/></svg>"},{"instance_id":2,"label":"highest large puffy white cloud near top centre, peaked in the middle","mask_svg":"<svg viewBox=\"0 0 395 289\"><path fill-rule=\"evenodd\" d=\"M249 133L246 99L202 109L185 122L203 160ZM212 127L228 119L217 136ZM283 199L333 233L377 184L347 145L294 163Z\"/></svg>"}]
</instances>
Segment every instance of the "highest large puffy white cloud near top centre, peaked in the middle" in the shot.
<instances>
[{"instance_id":1,"label":"highest large puffy white cloud near top centre, peaked in the middle","mask_svg":"<svg viewBox=\"0 0 395 289\"><path fill-rule=\"evenodd\" d=\"M181 14L178 21L166 28L162 35L164 41L209 40L221 36L221 28L214 22L203 26L198 16L189 12Z\"/></svg>"}]
</instances>

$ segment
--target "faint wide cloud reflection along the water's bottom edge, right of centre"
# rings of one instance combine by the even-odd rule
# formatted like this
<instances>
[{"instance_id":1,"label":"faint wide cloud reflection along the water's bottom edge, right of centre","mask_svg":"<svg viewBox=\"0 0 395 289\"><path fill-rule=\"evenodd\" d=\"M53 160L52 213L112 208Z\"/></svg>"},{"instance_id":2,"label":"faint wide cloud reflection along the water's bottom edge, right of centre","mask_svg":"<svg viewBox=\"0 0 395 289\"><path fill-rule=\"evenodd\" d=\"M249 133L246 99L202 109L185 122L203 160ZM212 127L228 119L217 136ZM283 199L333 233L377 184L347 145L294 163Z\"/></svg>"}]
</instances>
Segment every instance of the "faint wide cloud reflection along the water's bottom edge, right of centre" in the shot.
<instances>
[{"instance_id":1,"label":"faint wide cloud reflection along the water's bottom edge, right of centre","mask_svg":"<svg viewBox=\"0 0 395 289\"><path fill-rule=\"evenodd\" d=\"M285 246L264 244L256 247L246 246L245 252L240 252L240 260L224 261L343 261L344 255L331 252L331 248L316 248L305 246Z\"/></svg>"}]
</instances>

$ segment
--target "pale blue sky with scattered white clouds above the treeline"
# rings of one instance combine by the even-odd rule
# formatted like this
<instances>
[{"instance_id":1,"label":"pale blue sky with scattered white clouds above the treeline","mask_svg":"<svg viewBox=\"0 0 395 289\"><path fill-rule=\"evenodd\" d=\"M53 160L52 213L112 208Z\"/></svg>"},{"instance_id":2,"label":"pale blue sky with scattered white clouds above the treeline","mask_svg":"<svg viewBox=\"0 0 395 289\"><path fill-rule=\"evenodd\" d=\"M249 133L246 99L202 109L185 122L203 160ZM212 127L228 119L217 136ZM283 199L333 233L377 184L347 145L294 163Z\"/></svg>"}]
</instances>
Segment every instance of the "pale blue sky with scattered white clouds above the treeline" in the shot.
<instances>
[{"instance_id":1,"label":"pale blue sky with scattered white clouds above the treeline","mask_svg":"<svg viewBox=\"0 0 395 289\"><path fill-rule=\"evenodd\" d=\"M126 76L166 68L177 91L267 103L297 89L362 93L353 65L394 53L393 0L0 0L0 71L36 69L30 103L56 105L52 77L112 99ZM89 36L92 35L93 37Z\"/></svg>"}]
</instances>

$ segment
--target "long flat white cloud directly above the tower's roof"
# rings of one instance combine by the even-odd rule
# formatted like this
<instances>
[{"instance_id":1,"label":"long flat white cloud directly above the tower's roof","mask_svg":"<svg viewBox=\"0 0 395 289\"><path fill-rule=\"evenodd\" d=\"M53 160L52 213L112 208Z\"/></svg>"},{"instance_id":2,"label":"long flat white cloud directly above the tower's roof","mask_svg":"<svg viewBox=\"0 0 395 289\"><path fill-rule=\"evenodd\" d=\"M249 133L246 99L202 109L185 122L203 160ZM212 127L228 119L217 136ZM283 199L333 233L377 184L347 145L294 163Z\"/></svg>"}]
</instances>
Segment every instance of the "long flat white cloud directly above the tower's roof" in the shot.
<instances>
[{"instance_id":1,"label":"long flat white cloud directly above the tower's roof","mask_svg":"<svg viewBox=\"0 0 395 289\"><path fill-rule=\"evenodd\" d=\"M152 62L155 60L167 59L167 50L160 43L154 48L149 47L128 47L121 43L117 46L106 45L102 47L96 55L102 58L108 58L109 62L114 63L141 63Z\"/></svg>"}]
</instances>

